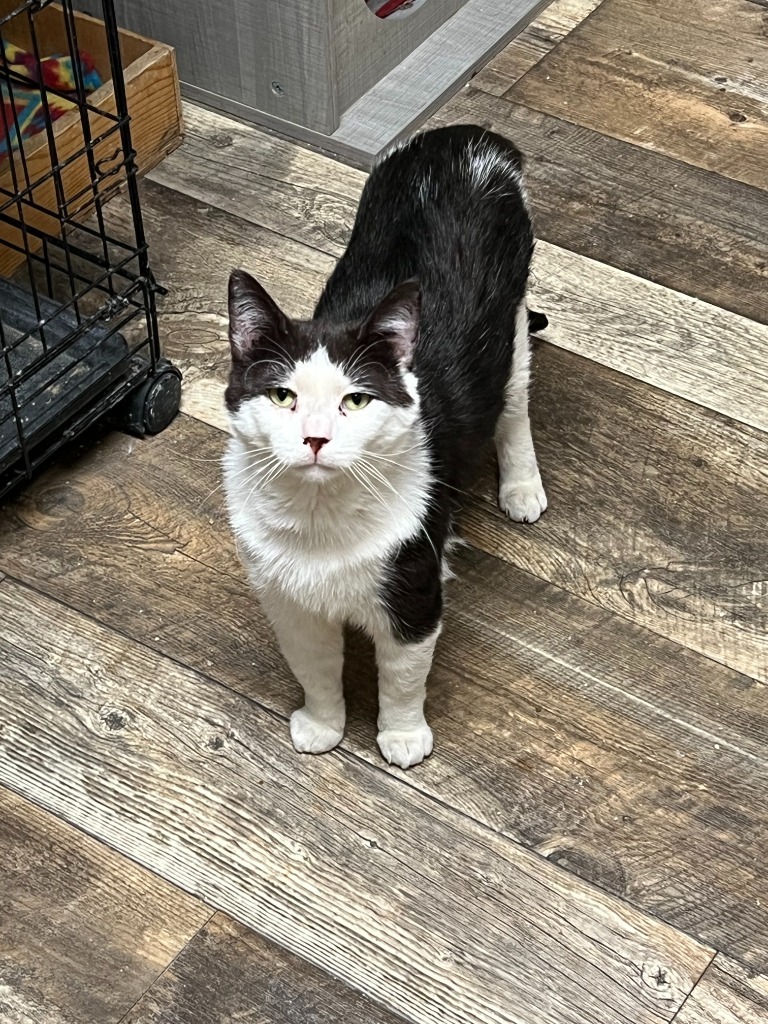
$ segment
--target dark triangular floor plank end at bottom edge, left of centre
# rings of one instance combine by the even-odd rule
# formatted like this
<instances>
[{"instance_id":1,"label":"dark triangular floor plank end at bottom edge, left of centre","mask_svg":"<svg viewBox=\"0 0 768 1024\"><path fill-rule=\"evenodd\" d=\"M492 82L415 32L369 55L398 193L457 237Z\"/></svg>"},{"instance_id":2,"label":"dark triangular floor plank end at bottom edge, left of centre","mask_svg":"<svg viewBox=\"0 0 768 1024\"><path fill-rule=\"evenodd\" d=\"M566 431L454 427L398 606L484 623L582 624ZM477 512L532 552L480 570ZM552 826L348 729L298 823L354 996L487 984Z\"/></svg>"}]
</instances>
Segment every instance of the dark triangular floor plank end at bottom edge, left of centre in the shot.
<instances>
[{"instance_id":1,"label":"dark triangular floor plank end at bottom edge, left of centre","mask_svg":"<svg viewBox=\"0 0 768 1024\"><path fill-rule=\"evenodd\" d=\"M217 913L121 1024L401 1024L402 1020Z\"/></svg>"}]
</instances>

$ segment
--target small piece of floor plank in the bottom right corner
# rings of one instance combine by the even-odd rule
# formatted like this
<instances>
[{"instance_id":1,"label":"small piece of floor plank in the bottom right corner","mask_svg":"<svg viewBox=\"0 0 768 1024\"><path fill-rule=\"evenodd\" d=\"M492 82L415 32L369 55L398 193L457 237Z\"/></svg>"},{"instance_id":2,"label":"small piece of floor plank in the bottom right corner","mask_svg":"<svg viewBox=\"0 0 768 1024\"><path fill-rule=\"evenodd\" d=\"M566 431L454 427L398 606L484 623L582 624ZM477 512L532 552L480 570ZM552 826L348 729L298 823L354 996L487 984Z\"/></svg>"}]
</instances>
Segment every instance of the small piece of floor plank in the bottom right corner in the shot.
<instances>
[{"instance_id":1,"label":"small piece of floor plank in the bottom right corner","mask_svg":"<svg viewBox=\"0 0 768 1024\"><path fill-rule=\"evenodd\" d=\"M768 978L744 971L718 953L705 971L676 1024L765 1024Z\"/></svg>"}]
</instances>

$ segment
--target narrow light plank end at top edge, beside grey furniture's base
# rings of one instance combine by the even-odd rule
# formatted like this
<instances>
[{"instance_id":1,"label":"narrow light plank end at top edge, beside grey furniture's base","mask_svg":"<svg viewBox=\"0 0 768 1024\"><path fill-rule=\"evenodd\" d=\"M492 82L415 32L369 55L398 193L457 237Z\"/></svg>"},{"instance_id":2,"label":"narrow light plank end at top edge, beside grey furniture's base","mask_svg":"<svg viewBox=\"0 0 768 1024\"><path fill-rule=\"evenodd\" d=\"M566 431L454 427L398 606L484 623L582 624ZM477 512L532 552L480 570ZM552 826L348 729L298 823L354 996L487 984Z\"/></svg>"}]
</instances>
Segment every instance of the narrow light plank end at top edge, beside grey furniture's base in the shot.
<instances>
[{"instance_id":1,"label":"narrow light plank end at top edge, beside grey furniture's base","mask_svg":"<svg viewBox=\"0 0 768 1024\"><path fill-rule=\"evenodd\" d=\"M503 95L601 3L555 0L472 78L472 85L492 96Z\"/></svg>"}]
</instances>

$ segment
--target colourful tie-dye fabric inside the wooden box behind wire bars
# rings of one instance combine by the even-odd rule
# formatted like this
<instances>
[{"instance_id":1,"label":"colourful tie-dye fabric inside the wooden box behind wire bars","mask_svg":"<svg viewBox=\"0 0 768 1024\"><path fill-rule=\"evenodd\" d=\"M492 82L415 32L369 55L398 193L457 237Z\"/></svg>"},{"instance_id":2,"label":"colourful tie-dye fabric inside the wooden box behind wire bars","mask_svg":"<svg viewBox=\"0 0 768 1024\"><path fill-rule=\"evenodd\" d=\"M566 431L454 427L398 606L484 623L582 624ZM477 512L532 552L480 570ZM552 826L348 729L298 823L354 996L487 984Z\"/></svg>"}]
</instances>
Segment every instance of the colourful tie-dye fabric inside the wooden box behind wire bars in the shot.
<instances>
[{"instance_id":1,"label":"colourful tie-dye fabric inside the wooden box behind wire bars","mask_svg":"<svg viewBox=\"0 0 768 1024\"><path fill-rule=\"evenodd\" d=\"M45 89L51 121L60 118L77 106L75 68L71 56L54 55L35 59L13 43L3 44L5 60L0 65L0 160L9 150L18 146L22 139L30 138L45 129L45 104L40 86ZM90 93L101 85L101 77L87 53L80 54L80 68L85 91ZM11 79L6 73L11 72ZM29 79L23 85L18 77Z\"/></svg>"}]
</instances>

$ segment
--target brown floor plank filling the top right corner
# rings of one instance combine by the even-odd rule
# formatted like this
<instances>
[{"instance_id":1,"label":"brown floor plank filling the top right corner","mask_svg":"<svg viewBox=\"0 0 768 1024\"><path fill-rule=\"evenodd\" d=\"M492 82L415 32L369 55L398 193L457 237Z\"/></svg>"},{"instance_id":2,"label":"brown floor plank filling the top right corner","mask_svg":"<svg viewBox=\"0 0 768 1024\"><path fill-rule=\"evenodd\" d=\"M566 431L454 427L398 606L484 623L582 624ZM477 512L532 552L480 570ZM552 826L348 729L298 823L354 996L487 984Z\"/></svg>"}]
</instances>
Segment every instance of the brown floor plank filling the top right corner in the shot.
<instances>
[{"instance_id":1,"label":"brown floor plank filling the top right corner","mask_svg":"<svg viewBox=\"0 0 768 1024\"><path fill-rule=\"evenodd\" d=\"M605 0L516 102L768 188L768 40L750 0Z\"/></svg>"}]
</instances>

